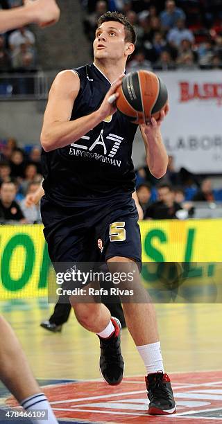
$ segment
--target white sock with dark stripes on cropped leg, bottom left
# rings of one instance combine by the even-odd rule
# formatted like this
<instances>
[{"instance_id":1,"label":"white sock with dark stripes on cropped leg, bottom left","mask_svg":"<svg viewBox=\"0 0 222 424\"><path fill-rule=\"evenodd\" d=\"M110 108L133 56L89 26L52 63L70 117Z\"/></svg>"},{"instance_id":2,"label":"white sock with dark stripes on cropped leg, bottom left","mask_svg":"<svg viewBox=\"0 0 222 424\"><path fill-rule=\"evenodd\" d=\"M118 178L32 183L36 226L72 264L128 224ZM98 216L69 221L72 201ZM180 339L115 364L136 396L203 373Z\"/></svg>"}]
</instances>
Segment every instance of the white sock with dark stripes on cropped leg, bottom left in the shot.
<instances>
[{"instance_id":1,"label":"white sock with dark stripes on cropped leg, bottom left","mask_svg":"<svg viewBox=\"0 0 222 424\"><path fill-rule=\"evenodd\" d=\"M58 424L56 416L53 414L53 410L51 409L49 401L47 400L44 393L35 394L22 400L21 405L24 409L26 409L26 411L38 412L45 410L47 412L48 419L42 417L44 419L35 418L32 420L32 418L30 418L33 424Z\"/></svg>"}]
</instances>

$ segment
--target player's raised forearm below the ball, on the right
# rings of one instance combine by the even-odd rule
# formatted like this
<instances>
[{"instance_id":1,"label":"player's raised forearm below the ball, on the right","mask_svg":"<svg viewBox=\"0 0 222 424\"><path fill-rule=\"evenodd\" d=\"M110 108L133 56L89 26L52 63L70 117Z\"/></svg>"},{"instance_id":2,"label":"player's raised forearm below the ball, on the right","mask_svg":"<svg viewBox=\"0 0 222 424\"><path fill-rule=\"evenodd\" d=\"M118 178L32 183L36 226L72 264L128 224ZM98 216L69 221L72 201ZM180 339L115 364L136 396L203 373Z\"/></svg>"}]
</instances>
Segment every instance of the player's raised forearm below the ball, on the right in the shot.
<instances>
[{"instance_id":1,"label":"player's raised forearm below the ball, on the right","mask_svg":"<svg viewBox=\"0 0 222 424\"><path fill-rule=\"evenodd\" d=\"M167 109L168 112L168 109ZM164 120L165 112L162 110L160 119L151 118L148 125L140 125L140 131L144 139L146 150L146 163L155 178L161 178L165 175L168 165L167 150L162 141L160 125Z\"/></svg>"}]
</instances>

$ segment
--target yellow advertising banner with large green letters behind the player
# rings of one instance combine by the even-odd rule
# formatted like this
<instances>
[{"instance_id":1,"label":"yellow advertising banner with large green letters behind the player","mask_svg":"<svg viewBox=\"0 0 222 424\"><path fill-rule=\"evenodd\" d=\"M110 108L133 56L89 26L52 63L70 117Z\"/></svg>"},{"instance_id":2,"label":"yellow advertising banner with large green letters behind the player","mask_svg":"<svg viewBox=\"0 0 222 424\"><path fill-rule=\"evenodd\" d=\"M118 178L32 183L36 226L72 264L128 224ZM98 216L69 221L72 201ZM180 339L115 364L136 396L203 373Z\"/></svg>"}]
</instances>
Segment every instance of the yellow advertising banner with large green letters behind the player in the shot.
<instances>
[{"instance_id":1,"label":"yellow advertising banner with large green letters behind the player","mask_svg":"<svg viewBox=\"0 0 222 424\"><path fill-rule=\"evenodd\" d=\"M0 300L47 295L52 267L42 229L39 224L0 227ZM207 263L207 278L219 278L215 263L222 258L222 220L146 220L140 229L143 262Z\"/></svg>"}]
</instances>

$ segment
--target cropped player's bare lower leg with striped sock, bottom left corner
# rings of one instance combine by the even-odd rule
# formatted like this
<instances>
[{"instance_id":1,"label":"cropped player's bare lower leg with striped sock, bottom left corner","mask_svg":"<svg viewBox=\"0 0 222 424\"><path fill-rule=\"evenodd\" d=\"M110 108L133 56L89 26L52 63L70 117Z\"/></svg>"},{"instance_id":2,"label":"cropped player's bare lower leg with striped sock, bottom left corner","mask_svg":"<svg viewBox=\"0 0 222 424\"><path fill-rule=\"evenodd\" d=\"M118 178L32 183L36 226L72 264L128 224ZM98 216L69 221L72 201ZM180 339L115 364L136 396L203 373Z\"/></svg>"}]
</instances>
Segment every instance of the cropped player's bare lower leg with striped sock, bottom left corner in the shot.
<instances>
[{"instance_id":1,"label":"cropped player's bare lower leg with striped sock, bottom left corner","mask_svg":"<svg viewBox=\"0 0 222 424\"><path fill-rule=\"evenodd\" d=\"M39 385L33 377L26 356L22 351L15 333L3 317L0 316L0 380L15 396L17 401L26 409L46 410L48 423L58 421L53 414L48 400L42 393ZM35 419L35 424L44 424L46 420Z\"/></svg>"}]
</instances>

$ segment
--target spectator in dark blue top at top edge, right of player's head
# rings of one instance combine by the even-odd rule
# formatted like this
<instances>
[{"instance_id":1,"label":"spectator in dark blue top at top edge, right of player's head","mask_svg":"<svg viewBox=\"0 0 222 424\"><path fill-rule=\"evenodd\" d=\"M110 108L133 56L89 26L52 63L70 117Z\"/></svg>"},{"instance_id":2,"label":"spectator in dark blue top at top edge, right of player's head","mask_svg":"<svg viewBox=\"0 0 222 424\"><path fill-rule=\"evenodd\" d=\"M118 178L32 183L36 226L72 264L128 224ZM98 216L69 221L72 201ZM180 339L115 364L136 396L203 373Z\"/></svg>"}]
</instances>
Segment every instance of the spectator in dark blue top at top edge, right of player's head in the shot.
<instances>
[{"instance_id":1,"label":"spectator in dark blue top at top edge, right of player's head","mask_svg":"<svg viewBox=\"0 0 222 424\"><path fill-rule=\"evenodd\" d=\"M176 8L175 1L167 0L165 3L165 10L160 13L162 27L164 30L169 30L176 26L178 19L185 20L185 12L180 8Z\"/></svg>"}]
</instances>

